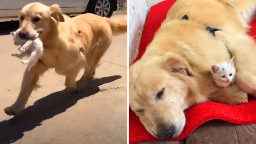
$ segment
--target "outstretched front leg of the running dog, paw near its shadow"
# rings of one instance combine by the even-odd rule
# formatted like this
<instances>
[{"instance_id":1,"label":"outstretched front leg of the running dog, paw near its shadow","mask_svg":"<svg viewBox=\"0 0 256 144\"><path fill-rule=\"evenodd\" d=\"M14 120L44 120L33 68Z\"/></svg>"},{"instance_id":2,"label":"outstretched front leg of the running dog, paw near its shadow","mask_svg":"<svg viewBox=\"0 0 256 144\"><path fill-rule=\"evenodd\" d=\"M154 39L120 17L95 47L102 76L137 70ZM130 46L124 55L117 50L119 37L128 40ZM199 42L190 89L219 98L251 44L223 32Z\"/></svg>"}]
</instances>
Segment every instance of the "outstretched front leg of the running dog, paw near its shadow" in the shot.
<instances>
[{"instance_id":1,"label":"outstretched front leg of the running dog, paw near its shadow","mask_svg":"<svg viewBox=\"0 0 256 144\"><path fill-rule=\"evenodd\" d=\"M39 76L42 75L46 70L47 67L43 63L37 62L36 65L31 68L31 71L25 71L19 96L13 105L4 109L6 114L10 116L17 114L25 107L28 97L37 84Z\"/></svg>"}]
</instances>

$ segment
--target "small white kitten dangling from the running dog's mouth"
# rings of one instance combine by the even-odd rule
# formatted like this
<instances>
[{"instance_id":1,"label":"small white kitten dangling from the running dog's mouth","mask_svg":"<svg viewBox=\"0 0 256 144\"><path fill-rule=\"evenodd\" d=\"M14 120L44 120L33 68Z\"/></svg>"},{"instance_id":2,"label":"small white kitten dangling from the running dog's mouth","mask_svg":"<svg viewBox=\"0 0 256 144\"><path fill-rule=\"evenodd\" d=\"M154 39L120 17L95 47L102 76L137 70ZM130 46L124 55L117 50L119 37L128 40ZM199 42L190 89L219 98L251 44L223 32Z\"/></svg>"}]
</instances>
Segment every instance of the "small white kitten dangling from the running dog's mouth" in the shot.
<instances>
[{"instance_id":1,"label":"small white kitten dangling from the running dog's mouth","mask_svg":"<svg viewBox=\"0 0 256 144\"><path fill-rule=\"evenodd\" d=\"M13 40L15 45L19 46L20 54L12 53L12 56L22 59L24 56L29 55L30 57L27 60L21 60L21 63L27 64L27 70L30 69L37 63L38 59L43 55L43 42L36 38L34 40L22 40L19 37L18 32L11 32L13 35Z\"/></svg>"}]
</instances>

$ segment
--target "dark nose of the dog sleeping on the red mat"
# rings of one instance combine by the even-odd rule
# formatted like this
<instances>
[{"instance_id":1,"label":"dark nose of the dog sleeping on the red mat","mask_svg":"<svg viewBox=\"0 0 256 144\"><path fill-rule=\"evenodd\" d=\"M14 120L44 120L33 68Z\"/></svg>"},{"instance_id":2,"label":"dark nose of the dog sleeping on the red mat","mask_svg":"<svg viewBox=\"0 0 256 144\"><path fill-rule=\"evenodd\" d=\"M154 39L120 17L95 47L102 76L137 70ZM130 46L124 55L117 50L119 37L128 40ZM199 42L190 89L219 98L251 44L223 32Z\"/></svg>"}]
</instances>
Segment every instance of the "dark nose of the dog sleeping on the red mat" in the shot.
<instances>
[{"instance_id":1,"label":"dark nose of the dog sleeping on the red mat","mask_svg":"<svg viewBox=\"0 0 256 144\"><path fill-rule=\"evenodd\" d=\"M164 124L159 124L157 126L157 133L156 133L156 137L160 140L165 140L167 138L171 138L173 137L174 133L175 133L175 127L174 126L167 126Z\"/></svg>"}]
</instances>

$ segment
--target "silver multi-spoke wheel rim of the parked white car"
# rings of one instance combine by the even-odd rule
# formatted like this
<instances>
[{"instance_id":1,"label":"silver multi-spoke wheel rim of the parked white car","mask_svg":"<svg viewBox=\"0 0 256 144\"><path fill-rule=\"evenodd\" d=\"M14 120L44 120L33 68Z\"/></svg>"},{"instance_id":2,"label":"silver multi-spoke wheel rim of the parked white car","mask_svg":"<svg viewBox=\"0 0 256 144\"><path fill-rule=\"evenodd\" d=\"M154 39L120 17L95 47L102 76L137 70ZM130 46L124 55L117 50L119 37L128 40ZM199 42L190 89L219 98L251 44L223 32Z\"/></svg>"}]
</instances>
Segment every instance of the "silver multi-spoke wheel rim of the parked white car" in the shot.
<instances>
[{"instance_id":1,"label":"silver multi-spoke wheel rim of the parked white car","mask_svg":"<svg viewBox=\"0 0 256 144\"><path fill-rule=\"evenodd\" d=\"M107 17L110 12L109 0L98 0L95 6L95 13L101 17Z\"/></svg>"}]
</instances>

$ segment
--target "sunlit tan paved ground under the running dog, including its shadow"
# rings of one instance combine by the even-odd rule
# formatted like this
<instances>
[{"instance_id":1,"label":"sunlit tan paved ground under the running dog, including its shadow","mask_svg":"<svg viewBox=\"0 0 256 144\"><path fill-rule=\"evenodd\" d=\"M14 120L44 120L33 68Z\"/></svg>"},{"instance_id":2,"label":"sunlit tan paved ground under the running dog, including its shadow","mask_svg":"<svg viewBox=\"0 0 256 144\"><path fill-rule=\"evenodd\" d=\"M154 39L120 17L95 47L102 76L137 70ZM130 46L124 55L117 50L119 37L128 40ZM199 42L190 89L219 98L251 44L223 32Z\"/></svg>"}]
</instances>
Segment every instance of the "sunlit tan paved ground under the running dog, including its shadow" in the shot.
<instances>
[{"instance_id":1,"label":"sunlit tan paved ground under the running dog, including its shadow","mask_svg":"<svg viewBox=\"0 0 256 144\"><path fill-rule=\"evenodd\" d=\"M40 79L42 88L13 118L3 109L17 98L26 67L11 57L18 52L8 34L15 26L17 22L0 23L0 144L127 143L127 34L114 37L96 70L98 79L84 91L64 91L65 78L50 70Z\"/></svg>"}]
</instances>

